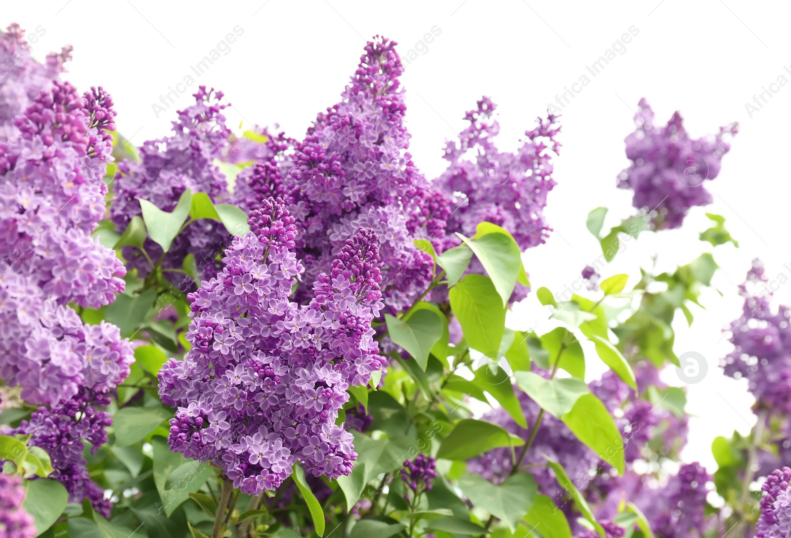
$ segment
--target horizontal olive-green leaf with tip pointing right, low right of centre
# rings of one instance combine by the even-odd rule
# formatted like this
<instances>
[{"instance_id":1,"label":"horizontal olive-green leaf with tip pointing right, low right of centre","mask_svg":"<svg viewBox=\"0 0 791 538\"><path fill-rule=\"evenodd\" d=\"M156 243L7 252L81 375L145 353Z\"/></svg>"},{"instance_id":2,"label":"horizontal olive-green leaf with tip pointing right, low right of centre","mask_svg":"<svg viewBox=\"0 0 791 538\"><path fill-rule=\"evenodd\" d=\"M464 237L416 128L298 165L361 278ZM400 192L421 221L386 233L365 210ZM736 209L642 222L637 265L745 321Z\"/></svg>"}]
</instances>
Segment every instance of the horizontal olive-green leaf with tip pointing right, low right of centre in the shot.
<instances>
[{"instance_id":1,"label":"horizontal olive-green leaf with tip pointing right, low right of centre","mask_svg":"<svg viewBox=\"0 0 791 538\"><path fill-rule=\"evenodd\" d=\"M512 437L496 424L464 419L442 440L437 457L445 460L469 460L501 446L521 445L524 445L524 440Z\"/></svg>"}]
</instances>

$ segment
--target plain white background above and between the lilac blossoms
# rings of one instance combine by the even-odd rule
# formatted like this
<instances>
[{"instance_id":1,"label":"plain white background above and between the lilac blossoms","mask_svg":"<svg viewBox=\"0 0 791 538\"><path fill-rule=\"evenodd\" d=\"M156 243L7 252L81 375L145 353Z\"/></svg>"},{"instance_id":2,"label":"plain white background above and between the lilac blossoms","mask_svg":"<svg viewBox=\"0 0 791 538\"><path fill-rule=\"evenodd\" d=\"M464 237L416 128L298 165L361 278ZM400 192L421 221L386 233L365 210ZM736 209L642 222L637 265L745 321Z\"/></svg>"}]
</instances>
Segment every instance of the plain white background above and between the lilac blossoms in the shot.
<instances>
[{"instance_id":1,"label":"plain white background above and between the lilac blossoms","mask_svg":"<svg viewBox=\"0 0 791 538\"><path fill-rule=\"evenodd\" d=\"M577 81L630 26L638 36L562 111L562 153L556 160L558 186L549 195L545 216L554 227L547 244L524 256L534 287L562 290L581 268L599 256L585 229L596 206L610 208L605 229L632 214L630 192L615 188L628 165L623 138L634 129L632 116L641 97L657 112L657 123L679 110L694 137L741 123L724 159L721 175L707 182L714 203L740 248L718 247L721 271L715 292L704 296L706 311L693 309L691 329L674 323L676 353L703 354L709 373L688 387L690 445L684 460L701 460L713 471L710 443L734 429L746 433L755 416L744 381L724 378L721 357L731 350L722 328L740 314L736 284L750 260L759 256L776 277L791 278L788 244L789 130L791 85L783 87L750 118L745 104L791 63L789 11L781 2L743 0L650 0L649 2L539 2L539 0L452 0L451 2L9 2L3 21L45 30L34 46L43 59L63 44L74 45L66 78L80 89L104 85L119 112L119 130L139 145L166 135L176 108L190 104L198 84L222 89L233 108L229 125L279 123L289 135L304 135L316 112L337 102L354 72L365 39L374 34L399 42L402 56L437 26L441 33L407 65L407 126L415 163L433 178L445 167L446 138L464 127L464 112L488 95L499 105L499 146L514 150L547 104ZM192 74L199 62L232 28L244 29L227 55L215 62L158 118L152 104L169 87ZM791 69L791 67L789 67ZM589 75L590 76L590 75ZM662 270L687 263L708 227L697 208L683 229L643 234L607 268L634 275L657 255ZM789 268L783 267L789 263ZM782 286L777 302L791 301ZM532 328L545 320L531 296L509 321ZM551 328L546 323L536 330ZM664 377L683 385L671 369Z\"/></svg>"}]
</instances>

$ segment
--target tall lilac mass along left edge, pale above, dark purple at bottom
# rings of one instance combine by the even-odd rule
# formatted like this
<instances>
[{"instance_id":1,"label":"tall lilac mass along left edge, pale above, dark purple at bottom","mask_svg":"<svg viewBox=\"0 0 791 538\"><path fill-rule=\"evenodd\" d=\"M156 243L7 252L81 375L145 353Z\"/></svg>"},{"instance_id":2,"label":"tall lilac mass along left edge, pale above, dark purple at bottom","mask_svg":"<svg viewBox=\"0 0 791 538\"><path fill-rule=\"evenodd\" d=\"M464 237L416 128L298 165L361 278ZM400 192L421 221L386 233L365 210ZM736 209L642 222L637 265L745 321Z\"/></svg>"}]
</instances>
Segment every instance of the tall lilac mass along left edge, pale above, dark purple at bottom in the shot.
<instances>
[{"instance_id":1,"label":"tall lilac mass along left edge, pale above, dark purple at bottom","mask_svg":"<svg viewBox=\"0 0 791 538\"><path fill-rule=\"evenodd\" d=\"M17 28L0 40L7 47L20 39ZM108 515L82 451L84 441L96 450L107 440L112 421L97 406L134 356L119 328L83 324L70 304L99 308L124 289L123 264L90 236L104 217L115 111L102 88L80 94L68 82L42 81L59 72L66 51L46 69L20 59L0 86L12 104L15 93L27 100L39 92L0 142L0 377L41 405L11 433L47 450L72 501L87 497ZM4 117L11 108L2 107Z\"/></svg>"}]
</instances>

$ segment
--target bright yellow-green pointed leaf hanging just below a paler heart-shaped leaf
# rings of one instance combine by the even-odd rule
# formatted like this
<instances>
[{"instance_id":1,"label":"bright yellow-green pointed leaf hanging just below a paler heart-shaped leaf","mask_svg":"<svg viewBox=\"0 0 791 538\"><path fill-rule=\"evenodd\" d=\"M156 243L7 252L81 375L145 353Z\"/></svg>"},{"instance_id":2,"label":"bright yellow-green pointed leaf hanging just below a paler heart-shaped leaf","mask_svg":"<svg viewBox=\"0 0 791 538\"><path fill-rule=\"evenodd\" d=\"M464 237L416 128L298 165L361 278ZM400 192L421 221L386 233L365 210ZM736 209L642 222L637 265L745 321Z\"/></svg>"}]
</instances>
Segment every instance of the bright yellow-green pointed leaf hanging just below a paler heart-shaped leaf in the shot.
<instances>
[{"instance_id":1,"label":"bright yellow-green pointed leaf hanging just below a paler heart-shaped leaf","mask_svg":"<svg viewBox=\"0 0 791 538\"><path fill-rule=\"evenodd\" d=\"M623 474L623 438L601 400L592 394L580 396L561 419L577 439Z\"/></svg>"}]
</instances>

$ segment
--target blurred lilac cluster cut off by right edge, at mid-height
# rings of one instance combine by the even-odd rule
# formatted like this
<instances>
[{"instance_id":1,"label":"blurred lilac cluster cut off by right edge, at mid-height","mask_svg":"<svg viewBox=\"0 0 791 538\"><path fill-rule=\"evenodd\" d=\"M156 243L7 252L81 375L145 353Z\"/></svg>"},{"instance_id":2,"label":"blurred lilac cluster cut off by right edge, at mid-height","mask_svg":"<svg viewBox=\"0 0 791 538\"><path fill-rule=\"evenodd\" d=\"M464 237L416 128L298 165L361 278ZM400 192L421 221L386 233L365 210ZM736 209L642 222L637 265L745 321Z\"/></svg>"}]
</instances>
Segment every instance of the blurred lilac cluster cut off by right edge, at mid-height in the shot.
<instances>
[{"instance_id":1,"label":"blurred lilac cluster cut off by right edge, at mid-height","mask_svg":"<svg viewBox=\"0 0 791 538\"><path fill-rule=\"evenodd\" d=\"M770 309L766 276L759 260L753 261L747 280L740 286L743 313L729 327L734 350L722 361L725 375L746 378L755 396L755 407L791 414L791 309Z\"/></svg>"}]
</instances>

